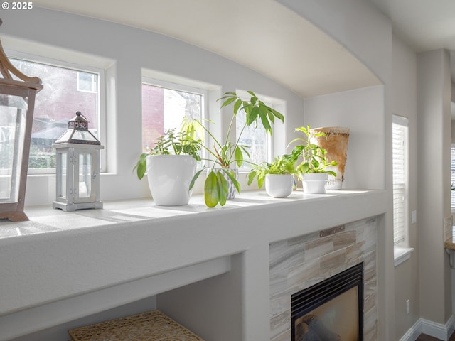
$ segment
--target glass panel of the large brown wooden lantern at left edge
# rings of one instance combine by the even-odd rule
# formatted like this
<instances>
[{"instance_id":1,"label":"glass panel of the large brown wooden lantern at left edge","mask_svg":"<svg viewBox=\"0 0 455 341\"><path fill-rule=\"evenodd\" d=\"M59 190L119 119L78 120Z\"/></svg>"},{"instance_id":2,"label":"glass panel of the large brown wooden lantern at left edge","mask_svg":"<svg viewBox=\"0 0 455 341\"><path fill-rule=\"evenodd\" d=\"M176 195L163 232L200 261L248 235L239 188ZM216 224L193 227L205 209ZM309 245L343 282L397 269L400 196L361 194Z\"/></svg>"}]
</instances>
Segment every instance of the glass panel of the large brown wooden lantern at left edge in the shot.
<instances>
[{"instance_id":1,"label":"glass panel of the large brown wooden lantern at left edge","mask_svg":"<svg viewBox=\"0 0 455 341\"><path fill-rule=\"evenodd\" d=\"M0 94L0 202L17 202L27 97Z\"/></svg>"}]
</instances>

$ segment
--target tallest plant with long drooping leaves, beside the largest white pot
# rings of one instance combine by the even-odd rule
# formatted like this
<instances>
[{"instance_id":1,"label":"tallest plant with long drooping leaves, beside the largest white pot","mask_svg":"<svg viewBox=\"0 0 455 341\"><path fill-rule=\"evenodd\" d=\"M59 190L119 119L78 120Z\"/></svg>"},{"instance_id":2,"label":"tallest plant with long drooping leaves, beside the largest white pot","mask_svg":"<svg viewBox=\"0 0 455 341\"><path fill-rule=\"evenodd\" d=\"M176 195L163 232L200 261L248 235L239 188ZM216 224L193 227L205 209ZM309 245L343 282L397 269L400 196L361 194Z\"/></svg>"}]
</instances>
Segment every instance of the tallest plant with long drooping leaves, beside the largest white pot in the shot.
<instances>
[{"instance_id":1,"label":"tallest plant with long drooping leaves, beside the largest white pot","mask_svg":"<svg viewBox=\"0 0 455 341\"><path fill-rule=\"evenodd\" d=\"M240 183L236 175L237 170L232 168L232 166L237 165L237 167L240 167L244 162L248 162L245 156L250 158L248 146L240 144L240 138L245 127L251 126L252 124L261 124L265 131L272 134L274 120L279 119L284 121L284 116L281 113L264 104L254 92L248 91L248 94L251 95L250 100L240 98L235 92L225 92L223 97L218 99L218 101L223 101L220 109L233 104L232 118L228 127L228 133L223 142L218 141L210 133L203 121L187 118L183 124L182 131L186 132L188 136L193 137L193 139L199 139L200 141L205 131L213 140L213 146L201 144L208 153L208 158L205 160L209 161L211 166L204 166L203 169L194 175L193 181L191 182L192 188L198 176L205 168L208 168L208 174L204 184L204 200L205 205L208 207L215 207L218 203L223 206L228 198L232 198L235 195L236 190L240 193ZM230 134L235 119L237 114L242 110L245 111L245 124L240 129L240 135L235 139L231 139Z\"/></svg>"}]
</instances>

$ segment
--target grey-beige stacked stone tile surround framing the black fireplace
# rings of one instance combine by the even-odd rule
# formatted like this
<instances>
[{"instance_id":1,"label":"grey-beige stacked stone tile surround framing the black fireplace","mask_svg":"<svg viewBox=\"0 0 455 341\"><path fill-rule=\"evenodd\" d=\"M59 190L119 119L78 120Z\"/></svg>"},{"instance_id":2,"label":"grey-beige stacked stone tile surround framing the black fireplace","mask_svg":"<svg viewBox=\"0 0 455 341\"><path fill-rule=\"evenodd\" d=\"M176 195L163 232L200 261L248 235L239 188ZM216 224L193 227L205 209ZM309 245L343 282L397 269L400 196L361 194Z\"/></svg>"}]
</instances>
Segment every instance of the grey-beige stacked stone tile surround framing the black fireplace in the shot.
<instances>
[{"instance_id":1,"label":"grey-beige stacked stone tile surround framing the black fireplace","mask_svg":"<svg viewBox=\"0 0 455 341\"><path fill-rule=\"evenodd\" d=\"M291 294L361 262L363 340L377 340L376 229L371 217L269 245L271 341L291 340Z\"/></svg>"}]
</instances>

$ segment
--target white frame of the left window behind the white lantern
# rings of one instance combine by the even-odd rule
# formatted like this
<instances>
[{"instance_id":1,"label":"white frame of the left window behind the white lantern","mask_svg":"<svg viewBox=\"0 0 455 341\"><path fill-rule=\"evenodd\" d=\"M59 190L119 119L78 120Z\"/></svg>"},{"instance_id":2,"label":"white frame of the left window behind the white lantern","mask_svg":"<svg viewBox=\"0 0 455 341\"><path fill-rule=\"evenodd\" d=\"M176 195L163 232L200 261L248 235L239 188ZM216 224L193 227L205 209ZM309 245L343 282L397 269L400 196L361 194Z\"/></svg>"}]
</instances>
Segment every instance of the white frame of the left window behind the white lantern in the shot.
<instances>
[{"instance_id":1,"label":"white frame of the left window behind the white lantern","mask_svg":"<svg viewBox=\"0 0 455 341\"><path fill-rule=\"evenodd\" d=\"M96 73L98 75L97 91L98 91L98 101L97 101L97 139L106 141L107 136L107 103L106 103L106 77L105 69L101 67L93 67L90 65L82 65L79 63L72 63L69 61L64 61L60 59L55 59L51 57L45 57L42 55L36 55L33 53L23 53L16 50L5 49L5 53L8 58L23 60L30 63L38 63L43 65L49 65L53 67L60 67L64 69L74 70L76 72L89 72ZM30 75L35 76L35 75ZM77 77L77 90L79 90L79 77ZM39 94L38 94L39 96ZM77 111L77 110L76 110ZM68 114L68 121L71 119L71 114ZM106 160L106 150L103 149L100 151L100 173L107 172L107 160ZM55 168L28 168L28 175L52 175L55 174Z\"/></svg>"}]
</instances>

